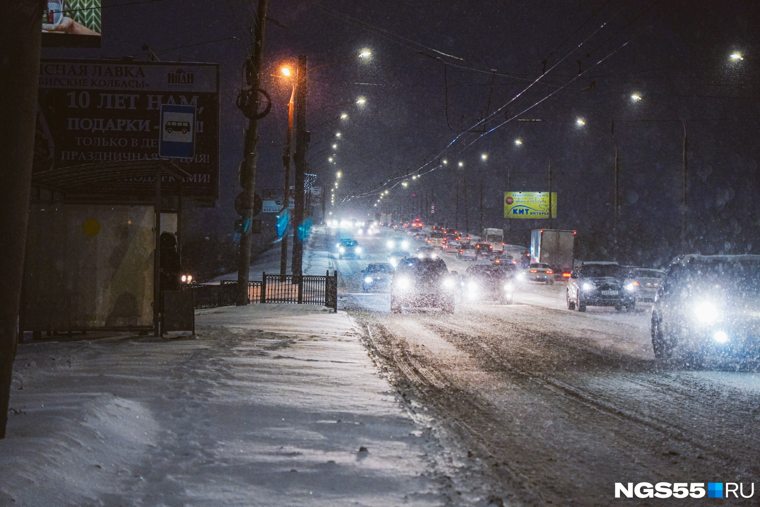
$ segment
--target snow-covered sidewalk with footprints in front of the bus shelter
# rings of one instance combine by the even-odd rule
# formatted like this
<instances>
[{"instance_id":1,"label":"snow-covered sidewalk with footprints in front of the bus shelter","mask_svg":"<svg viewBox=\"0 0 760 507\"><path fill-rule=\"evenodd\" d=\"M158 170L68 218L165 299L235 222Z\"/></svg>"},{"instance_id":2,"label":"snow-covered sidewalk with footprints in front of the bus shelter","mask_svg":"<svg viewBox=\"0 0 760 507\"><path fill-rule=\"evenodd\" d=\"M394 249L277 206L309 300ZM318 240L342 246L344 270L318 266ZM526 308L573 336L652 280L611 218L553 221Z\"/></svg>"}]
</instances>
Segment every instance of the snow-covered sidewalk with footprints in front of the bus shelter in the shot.
<instances>
[{"instance_id":1,"label":"snow-covered sidewalk with footprints in front of the bus shelter","mask_svg":"<svg viewBox=\"0 0 760 507\"><path fill-rule=\"evenodd\" d=\"M322 306L198 312L198 336L21 345L0 505L442 505L435 448Z\"/></svg>"}]
</instances>

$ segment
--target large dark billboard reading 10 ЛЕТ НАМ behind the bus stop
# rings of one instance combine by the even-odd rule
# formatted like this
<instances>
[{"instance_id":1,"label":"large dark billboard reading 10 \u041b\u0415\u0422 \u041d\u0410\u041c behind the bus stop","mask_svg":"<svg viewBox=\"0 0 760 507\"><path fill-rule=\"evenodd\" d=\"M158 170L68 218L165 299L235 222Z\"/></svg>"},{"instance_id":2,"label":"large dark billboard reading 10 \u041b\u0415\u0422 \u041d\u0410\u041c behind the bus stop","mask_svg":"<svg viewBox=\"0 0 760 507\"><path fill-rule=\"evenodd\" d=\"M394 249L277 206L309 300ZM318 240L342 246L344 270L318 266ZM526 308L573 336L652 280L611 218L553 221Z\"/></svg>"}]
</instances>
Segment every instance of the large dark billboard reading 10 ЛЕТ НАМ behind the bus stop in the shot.
<instances>
[{"instance_id":1,"label":"large dark billboard reading 10 \u041b\u0415\u0422 \u041d\u0410\u041c behind the bus stop","mask_svg":"<svg viewBox=\"0 0 760 507\"><path fill-rule=\"evenodd\" d=\"M219 68L214 63L43 59L34 171L159 158L160 112L195 106L195 155L175 158L189 173L185 195L218 196ZM147 195L154 178L100 182L87 192ZM176 193L173 177L163 192Z\"/></svg>"}]
</instances>

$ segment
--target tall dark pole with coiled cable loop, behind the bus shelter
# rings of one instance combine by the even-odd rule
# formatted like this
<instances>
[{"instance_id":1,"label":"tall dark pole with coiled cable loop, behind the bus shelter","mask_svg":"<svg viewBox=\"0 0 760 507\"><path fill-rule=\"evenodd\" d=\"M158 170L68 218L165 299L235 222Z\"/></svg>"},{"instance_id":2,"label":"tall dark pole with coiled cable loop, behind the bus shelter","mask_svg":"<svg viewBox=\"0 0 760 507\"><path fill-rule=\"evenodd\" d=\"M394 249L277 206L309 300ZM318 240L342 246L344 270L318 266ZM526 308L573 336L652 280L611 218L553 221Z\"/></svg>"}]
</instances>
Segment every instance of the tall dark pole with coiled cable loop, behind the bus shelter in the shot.
<instances>
[{"instance_id":1,"label":"tall dark pole with coiled cable loop, behind the bus shelter","mask_svg":"<svg viewBox=\"0 0 760 507\"><path fill-rule=\"evenodd\" d=\"M243 151L245 159L243 160L240 170L240 186L244 195L243 206L245 214L242 217L243 230L240 234L240 251L238 257L238 294L237 305L247 305L248 299L248 280L251 269L251 244L252 244L252 222L253 222L253 205L256 190L256 143L258 142L258 74L261 71L261 62L264 59L264 32L267 27L267 6L268 0L258 0L258 9L256 11L255 43L253 45L253 55L245 60L245 81L248 84L248 90L242 93L249 93L245 102L245 113L249 117L248 129L245 131L245 141Z\"/></svg>"}]
</instances>

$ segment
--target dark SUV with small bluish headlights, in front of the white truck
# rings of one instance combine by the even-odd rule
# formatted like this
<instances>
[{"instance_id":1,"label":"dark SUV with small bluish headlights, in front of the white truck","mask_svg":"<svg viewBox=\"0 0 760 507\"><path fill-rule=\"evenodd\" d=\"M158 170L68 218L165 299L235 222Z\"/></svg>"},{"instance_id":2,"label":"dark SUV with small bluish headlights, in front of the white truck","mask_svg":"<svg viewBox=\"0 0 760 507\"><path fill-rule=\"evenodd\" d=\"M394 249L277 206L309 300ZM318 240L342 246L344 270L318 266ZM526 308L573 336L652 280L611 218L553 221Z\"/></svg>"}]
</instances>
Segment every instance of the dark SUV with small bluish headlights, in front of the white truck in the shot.
<instances>
[{"instance_id":1,"label":"dark SUV with small bluish headlights, in front of the white truck","mask_svg":"<svg viewBox=\"0 0 760 507\"><path fill-rule=\"evenodd\" d=\"M570 274L565 293L568 309L585 312L587 306L636 308L635 285L630 271L615 261L584 262Z\"/></svg>"}]
</instances>

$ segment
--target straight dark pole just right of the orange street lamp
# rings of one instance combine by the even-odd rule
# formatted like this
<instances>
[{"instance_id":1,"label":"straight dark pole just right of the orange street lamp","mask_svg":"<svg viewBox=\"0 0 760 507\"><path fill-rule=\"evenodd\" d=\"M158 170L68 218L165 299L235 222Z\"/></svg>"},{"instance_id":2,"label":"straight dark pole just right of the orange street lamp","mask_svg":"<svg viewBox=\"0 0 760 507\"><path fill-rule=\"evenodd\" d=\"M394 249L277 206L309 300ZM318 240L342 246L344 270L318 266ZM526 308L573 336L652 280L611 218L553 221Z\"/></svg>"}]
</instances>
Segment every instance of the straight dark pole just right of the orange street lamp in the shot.
<instances>
[{"instance_id":1,"label":"straight dark pole just right of the orange street lamp","mask_svg":"<svg viewBox=\"0 0 760 507\"><path fill-rule=\"evenodd\" d=\"M303 270L303 242L299 238L298 230L304 221L304 180L306 179L306 55L298 56L298 70L296 71L296 154L293 157L296 163L296 208L293 210L293 261L290 266L293 274L302 274Z\"/></svg>"}]
</instances>

